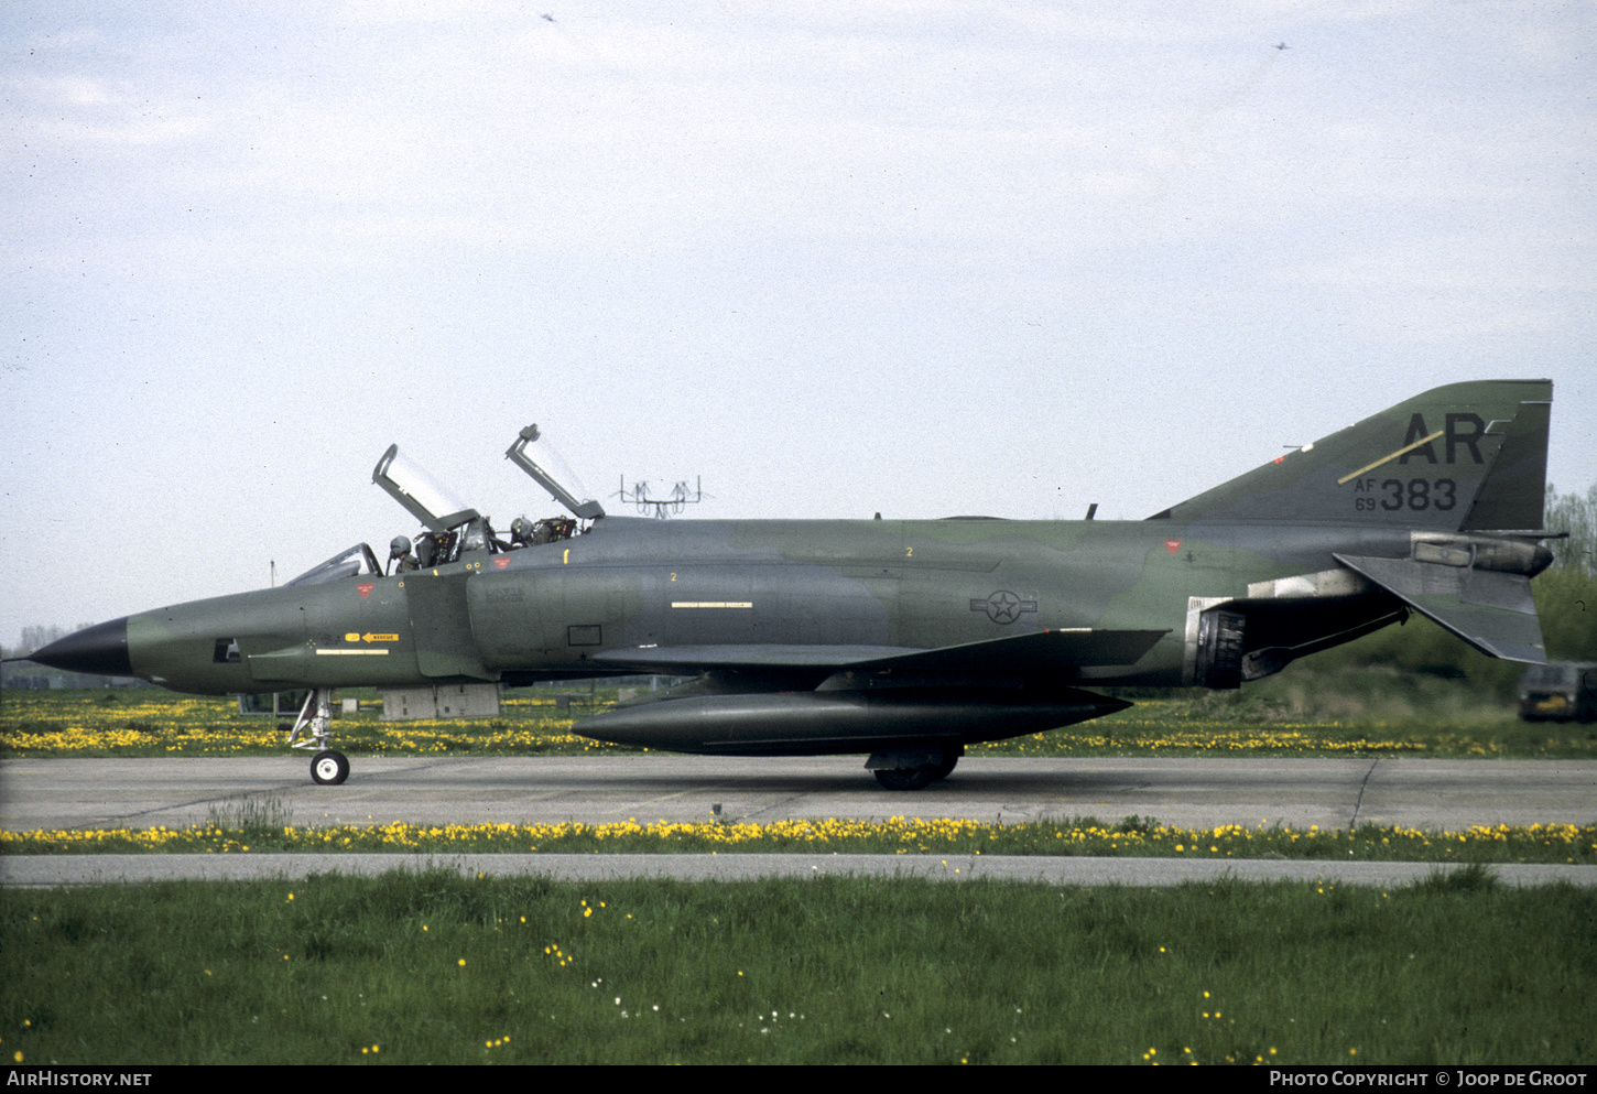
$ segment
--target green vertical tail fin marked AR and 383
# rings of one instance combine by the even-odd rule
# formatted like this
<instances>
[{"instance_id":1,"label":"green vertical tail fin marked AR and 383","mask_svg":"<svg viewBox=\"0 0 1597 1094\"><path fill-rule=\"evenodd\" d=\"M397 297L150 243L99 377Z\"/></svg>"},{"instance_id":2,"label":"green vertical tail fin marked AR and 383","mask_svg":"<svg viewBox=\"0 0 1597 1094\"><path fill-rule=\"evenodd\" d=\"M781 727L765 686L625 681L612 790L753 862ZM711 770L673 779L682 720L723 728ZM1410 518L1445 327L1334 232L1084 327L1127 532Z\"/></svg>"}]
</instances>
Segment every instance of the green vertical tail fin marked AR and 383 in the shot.
<instances>
[{"instance_id":1,"label":"green vertical tail fin marked AR and 383","mask_svg":"<svg viewBox=\"0 0 1597 1094\"><path fill-rule=\"evenodd\" d=\"M1540 529L1551 380L1433 388L1150 521Z\"/></svg>"}]
</instances>

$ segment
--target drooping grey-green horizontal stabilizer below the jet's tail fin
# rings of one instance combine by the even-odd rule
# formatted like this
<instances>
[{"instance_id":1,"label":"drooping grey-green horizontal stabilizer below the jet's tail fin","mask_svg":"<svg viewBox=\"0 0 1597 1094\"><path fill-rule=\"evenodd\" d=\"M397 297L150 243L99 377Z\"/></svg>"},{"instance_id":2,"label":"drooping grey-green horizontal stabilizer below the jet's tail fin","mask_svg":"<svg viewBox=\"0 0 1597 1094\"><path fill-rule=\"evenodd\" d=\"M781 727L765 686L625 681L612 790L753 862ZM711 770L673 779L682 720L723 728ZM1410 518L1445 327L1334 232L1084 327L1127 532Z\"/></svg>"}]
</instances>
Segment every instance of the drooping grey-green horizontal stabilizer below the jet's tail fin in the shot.
<instances>
[{"instance_id":1,"label":"drooping grey-green horizontal stabilizer below the jet's tail fin","mask_svg":"<svg viewBox=\"0 0 1597 1094\"><path fill-rule=\"evenodd\" d=\"M1546 664L1536 601L1524 573L1474 567L1332 556L1404 604L1447 628L1482 653L1504 661Z\"/></svg>"}]
</instances>

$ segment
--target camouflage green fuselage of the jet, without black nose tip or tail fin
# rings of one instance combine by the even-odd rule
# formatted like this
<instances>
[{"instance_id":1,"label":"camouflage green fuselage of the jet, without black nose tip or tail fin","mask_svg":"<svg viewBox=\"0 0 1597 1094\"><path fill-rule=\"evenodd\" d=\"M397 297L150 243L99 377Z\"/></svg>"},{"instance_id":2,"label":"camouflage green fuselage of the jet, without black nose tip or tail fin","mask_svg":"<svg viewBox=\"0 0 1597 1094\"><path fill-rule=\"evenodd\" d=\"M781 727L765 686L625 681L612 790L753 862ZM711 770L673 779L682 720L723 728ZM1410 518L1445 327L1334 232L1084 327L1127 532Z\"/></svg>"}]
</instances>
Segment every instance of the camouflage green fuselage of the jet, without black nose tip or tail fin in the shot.
<instances>
[{"instance_id":1,"label":"camouflage green fuselage of the jet, without black nose tip or tail fin","mask_svg":"<svg viewBox=\"0 0 1597 1094\"><path fill-rule=\"evenodd\" d=\"M1404 556L1409 533L1174 521L605 517L589 535L468 553L436 570L133 615L128 648L139 676L232 693L723 664L819 671L869 652L1043 631L1164 631L1134 664L1059 664L1054 677L1177 687L1193 682L1193 597L1249 602L1249 586L1257 593L1262 583L1337 569L1333 551ZM1250 645L1297 647L1391 621L1399 610L1362 585L1295 599L1294 608L1289 632L1255 626ZM671 653L711 648L714 660L699 666Z\"/></svg>"}]
</instances>

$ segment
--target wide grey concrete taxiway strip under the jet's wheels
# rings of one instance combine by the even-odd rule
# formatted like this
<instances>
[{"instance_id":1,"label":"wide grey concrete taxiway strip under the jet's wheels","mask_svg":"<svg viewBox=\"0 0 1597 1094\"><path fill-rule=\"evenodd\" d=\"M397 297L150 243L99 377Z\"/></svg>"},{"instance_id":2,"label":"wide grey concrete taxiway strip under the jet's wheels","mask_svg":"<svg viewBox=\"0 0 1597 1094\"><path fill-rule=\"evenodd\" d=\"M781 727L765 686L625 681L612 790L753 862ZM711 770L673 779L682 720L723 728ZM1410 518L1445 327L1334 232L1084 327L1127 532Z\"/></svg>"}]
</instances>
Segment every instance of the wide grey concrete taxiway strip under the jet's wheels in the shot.
<instances>
[{"instance_id":1,"label":"wide grey concrete taxiway strip under the jet's wheels","mask_svg":"<svg viewBox=\"0 0 1597 1094\"><path fill-rule=\"evenodd\" d=\"M965 759L894 794L859 757L356 757L315 786L299 755L0 762L0 827L185 826L273 802L295 824L728 821L891 816L1035 821L1127 815L1183 827L1597 821L1594 760Z\"/></svg>"}]
</instances>

